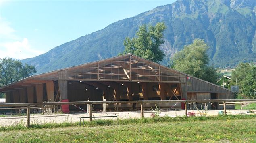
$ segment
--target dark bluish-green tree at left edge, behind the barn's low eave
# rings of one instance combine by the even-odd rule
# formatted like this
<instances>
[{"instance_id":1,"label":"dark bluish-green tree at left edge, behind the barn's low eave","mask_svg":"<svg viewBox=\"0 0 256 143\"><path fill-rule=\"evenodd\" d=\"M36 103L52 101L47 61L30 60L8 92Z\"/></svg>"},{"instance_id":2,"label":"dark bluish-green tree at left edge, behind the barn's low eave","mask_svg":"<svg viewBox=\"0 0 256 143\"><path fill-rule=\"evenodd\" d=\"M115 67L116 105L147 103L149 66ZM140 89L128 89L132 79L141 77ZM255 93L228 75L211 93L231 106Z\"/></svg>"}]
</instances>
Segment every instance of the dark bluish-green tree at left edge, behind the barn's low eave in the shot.
<instances>
[{"instance_id":1,"label":"dark bluish-green tree at left edge, behind the barn's low eave","mask_svg":"<svg viewBox=\"0 0 256 143\"><path fill-rule=\"evenodd\" d=\"M12 58L0 59L0 86L8 85L36 73L34 66L23 65Z\"/></svg>"}]
</instances>

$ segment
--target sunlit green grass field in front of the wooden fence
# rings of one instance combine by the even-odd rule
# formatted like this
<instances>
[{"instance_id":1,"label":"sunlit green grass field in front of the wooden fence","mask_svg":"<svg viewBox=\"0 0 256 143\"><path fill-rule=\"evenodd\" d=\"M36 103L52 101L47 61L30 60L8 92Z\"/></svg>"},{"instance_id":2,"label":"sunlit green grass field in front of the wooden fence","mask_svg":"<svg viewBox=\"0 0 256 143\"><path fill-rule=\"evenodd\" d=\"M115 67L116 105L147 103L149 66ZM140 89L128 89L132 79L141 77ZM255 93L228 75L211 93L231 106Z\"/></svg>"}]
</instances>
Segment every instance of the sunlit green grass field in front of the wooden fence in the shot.
<instances>
[{"instance_id":1,"label":"sunlit green grass field in front of the wooden fence","mask_svg":"<svg viewBox=\"0 0 256 143\"><path fill-rule=\"evenodd\" d=\"M255 115L121 119L0 127L0 142L255 142ZM42 129L37 129L42 128Z\"/></svg>"}]
</instances>

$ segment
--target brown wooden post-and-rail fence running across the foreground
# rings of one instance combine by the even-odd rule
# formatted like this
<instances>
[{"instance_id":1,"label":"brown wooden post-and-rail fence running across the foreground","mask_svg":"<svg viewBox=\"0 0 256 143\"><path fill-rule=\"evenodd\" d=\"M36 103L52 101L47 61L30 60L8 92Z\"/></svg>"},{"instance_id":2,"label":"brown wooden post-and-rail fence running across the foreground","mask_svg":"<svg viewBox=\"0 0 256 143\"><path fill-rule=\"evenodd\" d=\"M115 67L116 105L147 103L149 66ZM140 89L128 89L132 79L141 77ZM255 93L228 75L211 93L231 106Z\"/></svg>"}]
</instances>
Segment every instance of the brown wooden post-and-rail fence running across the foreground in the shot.
<instances>
[{"instance_id":1,"label":"brown wooden post-and-rail fence running across the foreground","mask_svg":"<svg viewBox=\"0 0 256 143\"><path fill-rule=\"evenodd\" d=\"M19 107L19 108L8 108L8 109L20 109L21 107L27 107L27 127L30 127L30 109L34 108L31 106L42 106L42 105L81 105L89 104L89 117L92 117L92 105L93 104L116 104L116 103L140 103L141 107L141 117L143 118L143 103L184 103L185 105L185 115L187 116L187 102L218 102L223 103L224 114L227 115L226 102L246 102L252 101L256 102L256 99L213 99L213 100L141 100L141 101L77 101L77 102L48 102L48 103L3 103L0 107ZM48 107L49 108L49 107ZM6 109L6 108L2 108ZM92 118L90 118L92 121Z\"/></svg>"}]
</instances>

